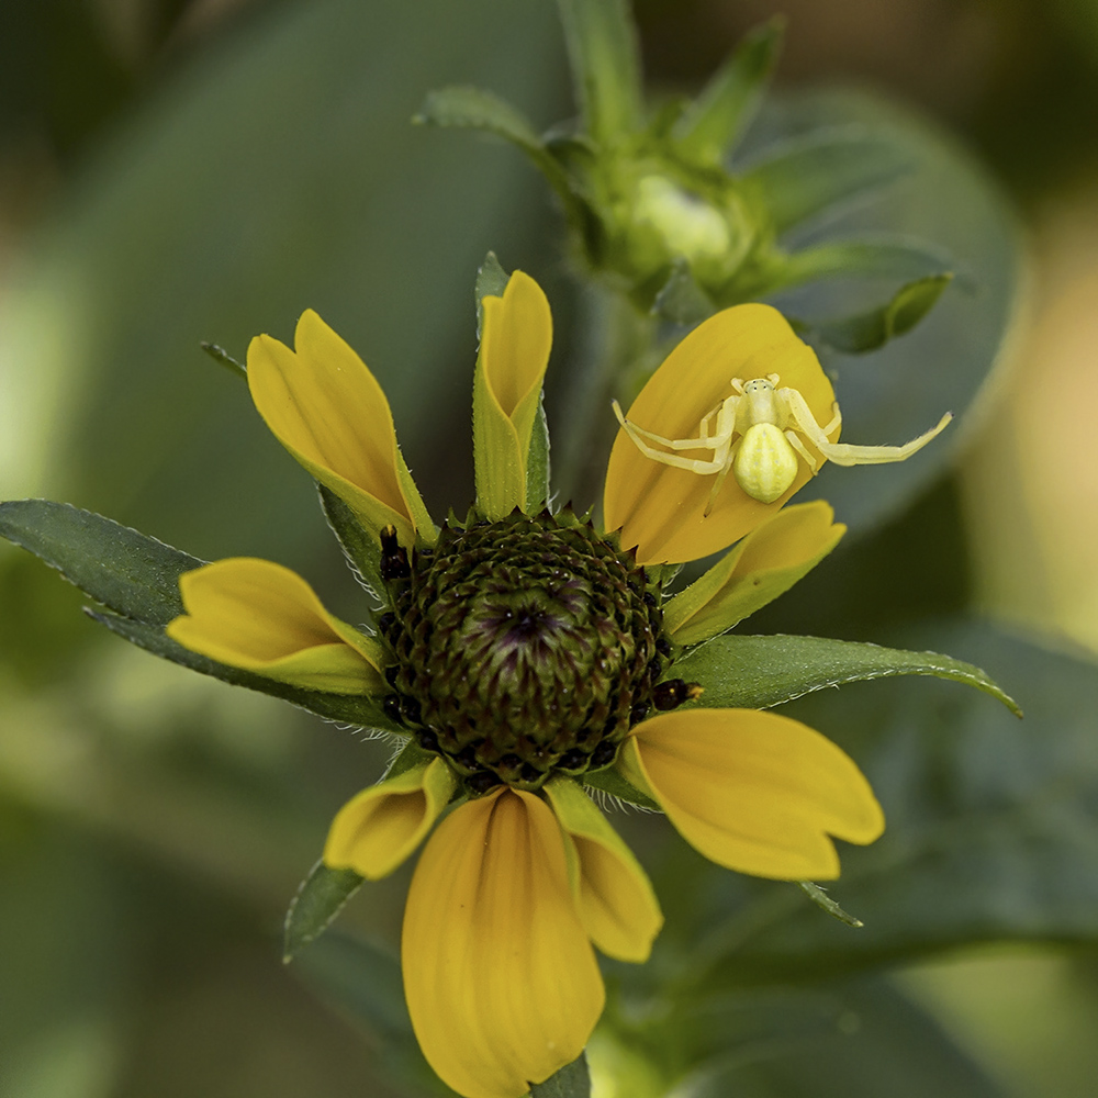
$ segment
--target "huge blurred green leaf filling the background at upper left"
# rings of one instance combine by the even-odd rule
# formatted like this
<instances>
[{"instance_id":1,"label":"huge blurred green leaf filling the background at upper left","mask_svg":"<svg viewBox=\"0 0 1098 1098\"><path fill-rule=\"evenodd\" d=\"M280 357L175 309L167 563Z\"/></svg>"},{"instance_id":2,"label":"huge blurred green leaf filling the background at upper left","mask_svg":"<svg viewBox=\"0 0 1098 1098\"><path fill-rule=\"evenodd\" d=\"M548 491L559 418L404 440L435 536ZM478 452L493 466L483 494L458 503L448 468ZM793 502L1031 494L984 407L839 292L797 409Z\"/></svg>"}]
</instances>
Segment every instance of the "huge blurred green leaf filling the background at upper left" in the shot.
<instances>
[{"instance_id":1,"label":"huge blurred green leaf filling the background at upper left","mask_svg":"<svg viewBox=\"0 0 1098 1098\"><path fill-rule=\"evenodd\" d=\"M551 5L291 0L181 54L0 295L0 358L15 392L34 390L14 427L45 461L0 491L304 567L327 551L307 477L194 348L285 339L306 306L384 385L410 462L460 484L447 436L468 436L475 354L462 288L489 244L533 268L550 212L509 150L410 115L462 79L554 116L559 41Z\"/></svg>"}]
</instances>

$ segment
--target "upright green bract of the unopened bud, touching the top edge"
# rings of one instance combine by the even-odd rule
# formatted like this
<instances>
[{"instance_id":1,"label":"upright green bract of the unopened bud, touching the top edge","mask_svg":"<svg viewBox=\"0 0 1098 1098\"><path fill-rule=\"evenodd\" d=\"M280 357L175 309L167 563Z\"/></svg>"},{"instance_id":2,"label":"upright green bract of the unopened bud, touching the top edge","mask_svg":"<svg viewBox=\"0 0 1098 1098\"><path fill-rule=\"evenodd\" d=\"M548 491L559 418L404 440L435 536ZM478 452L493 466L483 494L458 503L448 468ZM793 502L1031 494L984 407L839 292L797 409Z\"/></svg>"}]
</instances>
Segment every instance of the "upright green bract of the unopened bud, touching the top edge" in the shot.
<instances>
[{"instance_id":1,"label":"upright green bract of the unopened bud, touching the top edge","mask_svg":"<svg viewBox=\"0 0 1098 1098\"><path fill-rule=\"evenodd\" d=\"M600 145L635 133L643 114L640 47L626 0L558 0L580 119Z\"/></svg>"}]
</instances>

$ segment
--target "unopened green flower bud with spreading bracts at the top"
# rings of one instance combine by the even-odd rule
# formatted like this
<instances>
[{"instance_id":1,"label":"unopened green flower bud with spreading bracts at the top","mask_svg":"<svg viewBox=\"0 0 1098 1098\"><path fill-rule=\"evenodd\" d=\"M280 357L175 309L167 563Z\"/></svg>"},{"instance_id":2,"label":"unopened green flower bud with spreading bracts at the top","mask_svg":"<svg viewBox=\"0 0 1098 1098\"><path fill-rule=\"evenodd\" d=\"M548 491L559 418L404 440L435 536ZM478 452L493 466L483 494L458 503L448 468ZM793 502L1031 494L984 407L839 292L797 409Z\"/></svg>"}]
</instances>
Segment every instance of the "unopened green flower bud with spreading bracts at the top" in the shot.
<instances>
[{"instance_id":1,"label":"unopened green flower bud with spreading bracts at the top","mask_svg":"<svg viewBox=\"0 0 1098 1098\"><path fill-rule=\"evenodd\" d=\"M914 327L952 278L941 249L912 239L791 246L786 235L912 167L887 127L828 127L732 166L781 47L772 20L741 43L696 99L647 104L623 0L560 0L579 120L539 134L492 92L432 92L416 121L509 142L561 203L583 266L642 312L694 323L728 305L836 277L899 280L872 309L805 324L865 351Z\"/></svg>"}]
</instances>

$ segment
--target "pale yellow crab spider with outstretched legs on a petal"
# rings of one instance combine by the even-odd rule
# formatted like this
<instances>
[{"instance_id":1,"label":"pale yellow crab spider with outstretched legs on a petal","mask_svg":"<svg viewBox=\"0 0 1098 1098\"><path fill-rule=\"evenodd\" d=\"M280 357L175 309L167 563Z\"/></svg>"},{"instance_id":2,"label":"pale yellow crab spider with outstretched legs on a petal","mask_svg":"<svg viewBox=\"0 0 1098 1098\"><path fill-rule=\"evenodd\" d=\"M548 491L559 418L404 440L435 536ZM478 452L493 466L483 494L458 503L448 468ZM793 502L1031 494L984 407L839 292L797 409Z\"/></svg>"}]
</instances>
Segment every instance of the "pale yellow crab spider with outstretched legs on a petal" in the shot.
<instances>
[{"instance_id":1,"label":"pale yellow crab spider with outstretched legs on a petal","mask_svg":"<svg viewBox=\"0 0 1098 1098\"><path fill-rule=\"evenodd\" d=\"M804 459L815 477L817 460L799 437L802 435L836 464L884 464L904 461L921 450L953 418L953 414L946 412L937 427L905 446L832 442L830 436L842 424L838 403L832 404L831 422L821 427L800 392L778 389L778 380L776 373L747 382L732 378L735 394L721 401L702 419L697 438L664 438L638 427L621 414L617 401L614 401L614 414L646 457L699 477L717 474L705 508L706 515L713 509L729 471L744 493L760 503L773 503L787 491L797 475L798 458ZM649 442L658 442L672 452L657 449ZM713 457L686 458L674 452L677 450L712 450Z\"/></svg>"}]
</instances>

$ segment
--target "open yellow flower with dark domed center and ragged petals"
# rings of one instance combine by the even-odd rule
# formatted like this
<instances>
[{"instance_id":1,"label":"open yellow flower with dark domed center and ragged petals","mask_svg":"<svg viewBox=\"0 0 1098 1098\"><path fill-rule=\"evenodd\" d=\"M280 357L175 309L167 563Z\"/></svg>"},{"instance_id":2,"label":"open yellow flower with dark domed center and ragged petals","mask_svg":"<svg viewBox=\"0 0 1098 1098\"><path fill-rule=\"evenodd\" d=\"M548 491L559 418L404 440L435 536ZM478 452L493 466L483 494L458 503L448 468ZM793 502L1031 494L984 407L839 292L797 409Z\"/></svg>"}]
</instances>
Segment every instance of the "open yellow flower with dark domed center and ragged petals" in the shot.
<instances>
[{"instance_id":1,"label":"open yellow flower with dark domed center and ragged petals","mask_svg":"<svg viewBox=\"0 0 1098 1098\"><path fill-rule=\"evenodd\" d=\"M736 363L800 370L814 408L830 406L804 345L769 311L721 317ZM324 862L376 879L424 844L402 935L407 1004L428 1062L467 1098L518 1098L573 1061L604 1002L594 948L642 962L662 925L585 775L613 764L708 858L777 879L834 877L832 838L867 843L884 827L861 772L818 732L771 713L701 708L705 684L668 673L685 645L725 631L829 552L843 529L831 509L774 517L774 507L719 501L703 523L699 478L646 463L620 440L606 529L623 527L638 554L569 511L542 509L536 448L550 340L548 304L527 276L485 299L478 503L472 520L441 530L380 386L320 317L302 317L295 351L255 340L256 404L374 540L389 609L379 636L367 636L278 565L222 561L184 576L186 614L168 629L231 666L384 699L392 730L414 737L411 764L340 809ZM680 348L669 362L694 354ZM707 369L727 383L736 368ZM657 377L640 402L685 428L712 378L676 386ZM663 605L659 569L646 564L744 534Z\"/></svg>"}]
</instances>

